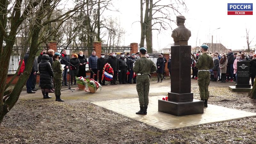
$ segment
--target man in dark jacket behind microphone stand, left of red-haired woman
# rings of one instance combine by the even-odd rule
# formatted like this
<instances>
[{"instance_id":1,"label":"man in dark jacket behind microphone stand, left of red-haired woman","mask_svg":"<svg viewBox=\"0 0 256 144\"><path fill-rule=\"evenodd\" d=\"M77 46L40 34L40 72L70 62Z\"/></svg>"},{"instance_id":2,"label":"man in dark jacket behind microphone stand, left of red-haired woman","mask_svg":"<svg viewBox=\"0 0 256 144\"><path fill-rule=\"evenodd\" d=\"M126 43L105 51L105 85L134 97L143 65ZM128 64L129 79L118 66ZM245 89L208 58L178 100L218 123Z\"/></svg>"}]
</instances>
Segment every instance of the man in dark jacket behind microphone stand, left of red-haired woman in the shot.
<instances>
[{"instance_id":1,"label":"man in dark jacket behind microphone stand, left of red-haired woman","mask_svg":"<svg viewBox=\"0 0 256 144\"><path fill-rule=\"evenodd\" d=\"M60 60L60 63L62 65L65 65L64 71L62 73L62 79L64 80L64 82L62 82L62 86L68 86L68 84L67 84L67 75L68 75L69 56L67 55L67 50L65 50L65 49L62 50L61 57L66 60L66 61L63 60L63 59Z\"/></svg>"}]
</instances>

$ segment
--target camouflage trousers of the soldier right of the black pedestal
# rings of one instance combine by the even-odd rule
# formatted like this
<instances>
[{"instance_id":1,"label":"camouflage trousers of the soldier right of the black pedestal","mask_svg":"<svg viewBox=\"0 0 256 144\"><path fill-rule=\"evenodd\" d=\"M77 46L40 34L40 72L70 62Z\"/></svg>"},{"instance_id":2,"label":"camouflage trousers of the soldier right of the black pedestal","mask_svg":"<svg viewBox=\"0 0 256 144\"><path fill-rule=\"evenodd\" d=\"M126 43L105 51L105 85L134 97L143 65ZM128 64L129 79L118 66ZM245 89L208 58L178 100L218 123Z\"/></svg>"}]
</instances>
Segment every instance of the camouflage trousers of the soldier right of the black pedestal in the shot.
<instances>
[{"instance_id":1,"label":"camouflage trousers of the soldier right of the black pedestal","mask_svg":"<svg viewBox=\"0 0 256 144\"><path fill-rule=\"evenodd\" d=\"M197 76L197 83L200 91L201 99L209 98L208 86L210 84L210 72L208 71L200 71Z\"/></svg>"}]
</instances>

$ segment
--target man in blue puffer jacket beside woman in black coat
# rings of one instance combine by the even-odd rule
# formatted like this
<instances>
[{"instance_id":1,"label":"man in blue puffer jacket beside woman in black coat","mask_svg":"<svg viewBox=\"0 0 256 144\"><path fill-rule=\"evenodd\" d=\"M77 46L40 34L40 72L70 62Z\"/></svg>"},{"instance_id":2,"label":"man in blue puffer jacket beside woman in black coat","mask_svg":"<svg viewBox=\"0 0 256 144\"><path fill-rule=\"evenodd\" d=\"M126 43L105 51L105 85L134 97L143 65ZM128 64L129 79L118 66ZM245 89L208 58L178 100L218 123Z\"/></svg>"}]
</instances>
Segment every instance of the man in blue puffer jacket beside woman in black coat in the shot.
<instances>
[{"instance_id":1,"label":"man in blue puffer jacket beside woman in black coat","mask_svg":"<svg viewBox=\"0 0 256 144\"><path fill-rule=\"evenodd\" d=\"M94 80L97 81L97 61L98 57L96 56L96 52L92 51L92 55L88 59L88 64L89 64L89 70L91 70L91 79L93 78L94 75Z\"/></svg>"}]
</instances>

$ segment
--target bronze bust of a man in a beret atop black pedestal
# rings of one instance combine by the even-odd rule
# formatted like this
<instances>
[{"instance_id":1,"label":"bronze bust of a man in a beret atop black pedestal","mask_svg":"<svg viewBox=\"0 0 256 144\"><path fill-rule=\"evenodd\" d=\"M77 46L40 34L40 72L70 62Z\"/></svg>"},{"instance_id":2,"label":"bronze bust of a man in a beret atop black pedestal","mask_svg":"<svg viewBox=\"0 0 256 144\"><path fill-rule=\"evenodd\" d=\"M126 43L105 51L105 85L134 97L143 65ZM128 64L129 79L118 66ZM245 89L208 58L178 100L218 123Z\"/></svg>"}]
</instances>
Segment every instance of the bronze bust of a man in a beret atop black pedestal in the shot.
<instances>
[{"instance_id":1,"label":"bronze bust of a man in a beret atop black pedestal","mask_svg":"<svg viewBox=\"0 0 256 144\"><path fill-rule=\"evenodd\" d=\"M174 45L188 45L191 31L184 25L186 18L184 16L177 16L176 18L178 27L172 31Z\"/></svg>"}]
</instances>

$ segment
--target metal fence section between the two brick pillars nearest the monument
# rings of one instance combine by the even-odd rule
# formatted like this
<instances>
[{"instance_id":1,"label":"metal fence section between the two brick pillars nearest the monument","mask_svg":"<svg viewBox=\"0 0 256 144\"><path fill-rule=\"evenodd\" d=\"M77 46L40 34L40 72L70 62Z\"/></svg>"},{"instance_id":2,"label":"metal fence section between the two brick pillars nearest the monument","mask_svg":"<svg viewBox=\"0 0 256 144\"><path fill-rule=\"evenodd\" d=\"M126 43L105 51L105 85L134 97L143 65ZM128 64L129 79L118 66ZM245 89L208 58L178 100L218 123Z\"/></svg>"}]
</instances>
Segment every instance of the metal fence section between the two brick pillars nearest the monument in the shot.
<instances>
[{"instance_id":1,"label":"metal fence section between the two brick pillars nearest the monument","mask_svg":"<svg viewBox=\"0 0 256 144\"><path fill-rule=\"evenodd\" d=\"M111 52L116 52L117 57L120 57L120 54L124 52L131 52L132 47L101 47L101 52L105 53L105 55L109 55Z\"/></svg>"}]
</instances>

